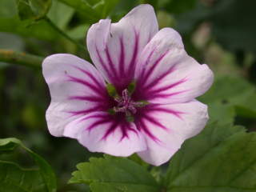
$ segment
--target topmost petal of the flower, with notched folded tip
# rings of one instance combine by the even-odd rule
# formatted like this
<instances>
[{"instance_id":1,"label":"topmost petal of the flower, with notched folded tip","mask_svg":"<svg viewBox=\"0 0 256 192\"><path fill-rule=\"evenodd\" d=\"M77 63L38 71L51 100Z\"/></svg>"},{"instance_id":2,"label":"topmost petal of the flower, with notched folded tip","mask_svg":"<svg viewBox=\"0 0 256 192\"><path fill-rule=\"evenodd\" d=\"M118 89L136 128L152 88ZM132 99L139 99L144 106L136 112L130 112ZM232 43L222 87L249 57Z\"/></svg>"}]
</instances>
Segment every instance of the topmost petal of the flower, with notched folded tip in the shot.
<instances>
[{"instance_id":1,"label":"topmost petal of the flower, with notched folded tip","mask_svg":"<svg viewBox=\"0 0 256 192\"><path fill-rule=\"evenodd\" d=\"M100 20L88 30L90 58L107 81L122 91L134 78L138 55L157 31L158 22L150 5L135 7L117 23Z\"/></svg>"}]
</instances>

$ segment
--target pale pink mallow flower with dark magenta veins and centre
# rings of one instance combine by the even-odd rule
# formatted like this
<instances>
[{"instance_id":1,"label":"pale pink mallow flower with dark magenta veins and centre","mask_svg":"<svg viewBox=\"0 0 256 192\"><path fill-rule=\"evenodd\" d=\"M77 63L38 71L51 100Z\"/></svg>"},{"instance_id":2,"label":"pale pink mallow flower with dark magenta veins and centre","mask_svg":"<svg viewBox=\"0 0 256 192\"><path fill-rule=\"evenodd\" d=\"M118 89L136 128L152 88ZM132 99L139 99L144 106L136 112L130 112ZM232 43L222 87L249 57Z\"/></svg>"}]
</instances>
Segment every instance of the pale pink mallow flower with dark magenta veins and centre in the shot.
<instances>
[{"instance_id":1,"label":"pale pink mallow flower with dark magenta veins and centre","mask_svg":"<svg viewBox=\"0 0 256 192\"><path fill-rule=\"evenodd\" d=\"M186 54L178 32L158 31L152 6L137 6L117 23L100 20L86 42L95 67L72 54L42 63L50 134L159 166L206 125L207 106L195 98L213 73Z\"/></svg>"}]
</instances>

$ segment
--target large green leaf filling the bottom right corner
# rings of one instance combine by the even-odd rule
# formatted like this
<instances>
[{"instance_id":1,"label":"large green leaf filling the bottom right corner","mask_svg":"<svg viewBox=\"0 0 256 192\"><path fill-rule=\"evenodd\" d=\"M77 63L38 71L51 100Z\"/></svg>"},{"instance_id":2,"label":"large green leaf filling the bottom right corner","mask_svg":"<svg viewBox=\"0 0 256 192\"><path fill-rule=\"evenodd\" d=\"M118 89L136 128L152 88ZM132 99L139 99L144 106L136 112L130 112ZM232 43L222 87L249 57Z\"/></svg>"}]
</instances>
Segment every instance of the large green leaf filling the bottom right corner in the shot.
<instances>
[{"instance_id":1,"label":"large green leaf filling the bottom right corner","mask_svg":"<svg viewBox=\"0 0 256 192\"><path fill-rule=\"evenodd\" d=\"M241 126L211 123L171 159L166 191L255 191L255 142Z\"/></svg>"}]
</instances>

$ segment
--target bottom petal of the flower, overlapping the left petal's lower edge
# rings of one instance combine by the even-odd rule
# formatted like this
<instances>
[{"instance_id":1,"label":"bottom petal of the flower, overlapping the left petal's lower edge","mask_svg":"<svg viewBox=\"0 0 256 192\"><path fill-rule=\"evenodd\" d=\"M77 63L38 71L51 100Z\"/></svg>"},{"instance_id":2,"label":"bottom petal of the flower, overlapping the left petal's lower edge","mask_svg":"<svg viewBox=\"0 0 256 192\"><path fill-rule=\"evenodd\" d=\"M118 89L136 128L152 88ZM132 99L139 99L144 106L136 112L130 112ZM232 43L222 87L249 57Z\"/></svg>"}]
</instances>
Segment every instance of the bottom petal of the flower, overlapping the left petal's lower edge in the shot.
<instances>
[{"instance_id":1,"label":"bottom petal of the flower, overlapping the left petal's lower edge","mask_svg":"<svg viewBox=\"0 0 256 192\"><path fill-rule=\"evenodd\" d=\"M70 122L65 136L73 134L91 152L103 152L127 157L146 150L145 138L136 130L133 122L118 122L113 115L96 112ZM75 128L75 131L74 131Z\"/></svg>"}]
</instances>

